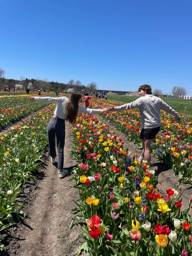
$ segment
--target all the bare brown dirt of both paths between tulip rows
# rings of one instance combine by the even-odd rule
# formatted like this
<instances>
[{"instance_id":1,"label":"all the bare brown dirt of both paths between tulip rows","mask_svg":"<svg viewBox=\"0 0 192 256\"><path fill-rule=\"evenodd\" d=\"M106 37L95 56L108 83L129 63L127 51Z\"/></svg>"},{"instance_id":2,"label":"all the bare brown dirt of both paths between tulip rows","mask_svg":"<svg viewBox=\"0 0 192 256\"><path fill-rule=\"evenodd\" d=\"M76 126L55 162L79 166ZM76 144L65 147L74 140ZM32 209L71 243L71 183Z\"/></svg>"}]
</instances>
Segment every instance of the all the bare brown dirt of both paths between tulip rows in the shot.
<instances>
[{"instance_id":1,"label":"all the bare brown dirt of both paths between tulip rows","mask_svg":"<svg viewBox=\"0 0 192 256\"><path fill-rule=\"evenodd\" d=\"M101 122L105 122L99 117ZM77 163L69 155L71 150L70 124L66 122L66 142L64 151L64 167L68 170ZM114 126L110 127L115 134L122 138L125 147L131 154L141 153L136 145L126 140L125 135ZM158 166L158 190L162 194L166 189L175 188L178 177L174 175L162 162L155 161ZM78 190L70 188L72 175L69 173L64 179L59 179L56 164L52 165L48 153L45 165L38 172L36 183L29 182L25 186L23 195L26 196L26 218L21 220L17 227L9 229L6 252L2 256L76 256L82 239L78 239L81 232L75 224L70 230L69 225L74 217L71 208L75 207L74 196L78 197ZM180 186L183 190L182 209L188 208L188 198L192 188L188 185ZM22 195L21 195L22 196Z\"/></svg>"}]
</instances>

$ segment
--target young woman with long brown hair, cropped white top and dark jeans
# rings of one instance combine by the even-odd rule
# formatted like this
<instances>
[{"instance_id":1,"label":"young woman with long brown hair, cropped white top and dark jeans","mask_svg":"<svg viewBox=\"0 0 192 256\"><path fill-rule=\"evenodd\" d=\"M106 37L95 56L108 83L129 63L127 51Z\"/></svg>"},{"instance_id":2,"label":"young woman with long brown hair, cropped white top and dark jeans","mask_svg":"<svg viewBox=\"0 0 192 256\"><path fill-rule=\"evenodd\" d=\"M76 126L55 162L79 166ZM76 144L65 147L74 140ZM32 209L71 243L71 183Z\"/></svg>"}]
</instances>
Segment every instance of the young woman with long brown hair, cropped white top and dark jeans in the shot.
<instances>
[{"instance_id":1,"label":"young woman with long brown hair, cropped white top and dark jeans","mask_svg":"<svg viewBox=\"0 0 192 256\"><path fill-rule=\"evenodd\" d=\"M73 92L70 99L66 97L30 97L32 101L49 102L57 104L54 115L47 125L47 135L49 141L49 155L51 163L55 163L56 150L55 150L55 135L58 151L58 173L59 177L63 178L68 174L68 171L63 169L64 164L64 144L65 144L65 120L74 123L79 113L87 114L100 114L107 112L105 109L86 109L79 106L82 100L81 93Z\"/></svg>"}]
</instances>

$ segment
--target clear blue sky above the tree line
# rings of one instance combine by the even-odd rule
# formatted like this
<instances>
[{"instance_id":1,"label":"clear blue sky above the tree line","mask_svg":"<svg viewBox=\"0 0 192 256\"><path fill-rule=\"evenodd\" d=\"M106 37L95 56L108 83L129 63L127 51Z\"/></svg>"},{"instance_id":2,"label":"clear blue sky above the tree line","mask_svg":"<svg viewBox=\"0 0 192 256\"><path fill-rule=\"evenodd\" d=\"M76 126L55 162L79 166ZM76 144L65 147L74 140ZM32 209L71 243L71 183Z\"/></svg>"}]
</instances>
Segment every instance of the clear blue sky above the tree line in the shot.
<instances>
[{"instance_id":1,"label":"clear blue sky above the tree line","mask_svg":"<svg viewBox=\"0 0 192 256\"><path fill-rule=\"evenodd\" d=\"M192 94L192 0L0 0L6 78Z\"/></svg>"}]
</instances>

